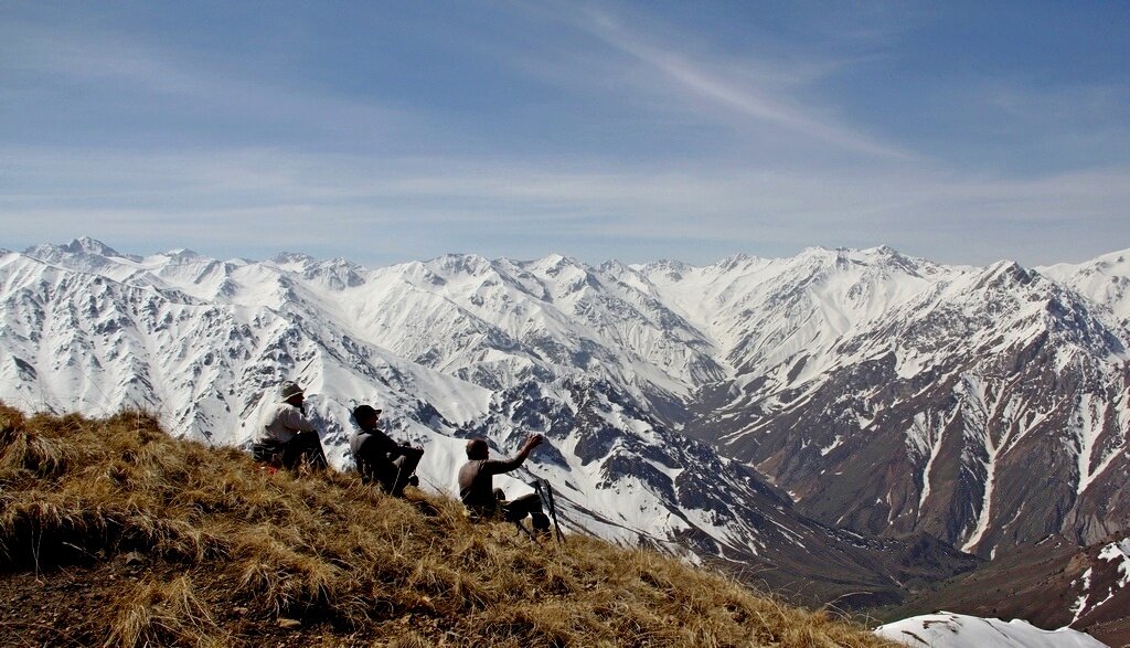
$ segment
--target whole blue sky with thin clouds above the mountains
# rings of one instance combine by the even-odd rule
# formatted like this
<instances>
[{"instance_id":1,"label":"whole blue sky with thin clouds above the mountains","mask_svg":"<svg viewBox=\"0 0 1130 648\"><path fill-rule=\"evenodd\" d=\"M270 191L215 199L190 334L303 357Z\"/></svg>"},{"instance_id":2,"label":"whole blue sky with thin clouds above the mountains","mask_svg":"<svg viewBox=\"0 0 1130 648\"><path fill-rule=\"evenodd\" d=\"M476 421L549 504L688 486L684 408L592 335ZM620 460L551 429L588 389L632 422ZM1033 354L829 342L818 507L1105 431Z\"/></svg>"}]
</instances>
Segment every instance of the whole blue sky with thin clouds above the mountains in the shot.
<instances>
[{"instance_id":1,"label":"whole blue sky with thin clouds above the mountains","mask_svg":"<svg viewBox=\"0 0 1130 648\"><path fill-rule=\"evenodd\" d=\"M1130 248L1125 2L0 0L0 247Z\"/></svg>"}]
</instances>

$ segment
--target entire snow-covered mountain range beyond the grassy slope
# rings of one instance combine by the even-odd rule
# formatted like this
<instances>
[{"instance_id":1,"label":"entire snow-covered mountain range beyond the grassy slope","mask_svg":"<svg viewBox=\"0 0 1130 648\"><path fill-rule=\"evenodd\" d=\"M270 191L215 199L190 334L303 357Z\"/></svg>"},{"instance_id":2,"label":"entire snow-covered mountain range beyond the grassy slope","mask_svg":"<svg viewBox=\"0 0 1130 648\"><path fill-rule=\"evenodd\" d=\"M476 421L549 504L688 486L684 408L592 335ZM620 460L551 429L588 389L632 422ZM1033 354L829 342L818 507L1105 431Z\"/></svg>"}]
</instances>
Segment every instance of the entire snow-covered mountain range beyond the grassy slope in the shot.
<instances>
[{"instance_id":1,"label":"entire snow-covered mountain range beyond the grassy slope","mask_svg":"<svg viewBox=\"0 0 1130 648\"><path fill-rule=\"evenodd\" d=\"M1118 258L1046 274L887 248L366 269L78 240L0 257L0 399L141 406L243 444L293 379L332 461L350 463L348 411L376 403L428 447L437 489L467 435L508 452L540 431L529 473L558 484L572 525L873 603L967 567L946 545L989 559L1130 526Z\"/></svg>"}]
</instances>

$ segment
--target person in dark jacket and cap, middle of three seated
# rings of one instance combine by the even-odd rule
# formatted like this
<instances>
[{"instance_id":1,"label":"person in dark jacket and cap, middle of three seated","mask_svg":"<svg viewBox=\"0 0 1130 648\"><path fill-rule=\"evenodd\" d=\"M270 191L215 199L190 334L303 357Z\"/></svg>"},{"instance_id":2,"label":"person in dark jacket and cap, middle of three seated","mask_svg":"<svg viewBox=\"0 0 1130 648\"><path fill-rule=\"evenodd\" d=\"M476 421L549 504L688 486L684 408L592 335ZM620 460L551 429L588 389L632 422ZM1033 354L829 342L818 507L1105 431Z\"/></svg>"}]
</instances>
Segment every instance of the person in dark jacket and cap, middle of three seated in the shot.
<instances>
[{"instance_id":1,"label":"person in dark jacket and cap, middle of three seated","mask_svg":"<svg viewBox=\"0 0 1130 648\"><path fill-rule=\"evenodd\" d=\"M424 449L401 446L382 432L377 427L380 409L359 405L353 416L357 431L349 438L349 448L362 481L375 482L397 498L405 496L405 486L424 457Z\"/></svg>"}]
</instances>

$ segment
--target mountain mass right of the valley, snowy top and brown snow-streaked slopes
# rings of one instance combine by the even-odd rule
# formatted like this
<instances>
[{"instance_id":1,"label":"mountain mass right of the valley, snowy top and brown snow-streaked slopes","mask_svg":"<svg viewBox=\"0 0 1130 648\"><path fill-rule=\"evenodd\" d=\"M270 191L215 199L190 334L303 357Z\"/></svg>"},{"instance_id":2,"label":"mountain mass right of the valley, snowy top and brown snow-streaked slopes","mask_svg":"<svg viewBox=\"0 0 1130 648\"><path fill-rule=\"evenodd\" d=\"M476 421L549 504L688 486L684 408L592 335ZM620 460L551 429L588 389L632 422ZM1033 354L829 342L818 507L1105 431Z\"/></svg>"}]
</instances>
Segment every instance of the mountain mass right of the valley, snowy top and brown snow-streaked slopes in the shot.
<instances>
[{"instance_id":1,"label":"mountain mass right of the valley, snowy top and brown snow-streaked slopes","mask_svg":"<svg viewBox=\"0 0 1130 648\"><path fill-rule=\"evenodd\" d=\"M701 323L734 377L699 392L688 433L827 524L990 558L1130 526L1130 329L1103 287L1125 266L1079 268L1055 280L878 249L643 271L676 303L718 306Z\"/></svg>"}]
</instances>

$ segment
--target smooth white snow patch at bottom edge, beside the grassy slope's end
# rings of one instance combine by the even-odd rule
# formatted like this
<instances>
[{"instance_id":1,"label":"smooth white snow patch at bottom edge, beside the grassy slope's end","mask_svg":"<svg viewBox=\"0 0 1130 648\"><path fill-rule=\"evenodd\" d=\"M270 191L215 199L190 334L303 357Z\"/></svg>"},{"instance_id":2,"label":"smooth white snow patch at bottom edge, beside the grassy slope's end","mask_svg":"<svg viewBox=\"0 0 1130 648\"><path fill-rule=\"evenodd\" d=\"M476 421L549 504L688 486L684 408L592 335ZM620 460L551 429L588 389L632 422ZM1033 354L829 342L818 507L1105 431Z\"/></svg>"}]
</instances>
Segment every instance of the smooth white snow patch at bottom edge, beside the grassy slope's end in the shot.
<instances>
[{"instance_id":1,"label":"smooth white snow patch at bottom edge, beside the grassy slope's end","mask_svg":"<svg viewBox=\"0 0 1130 648\"><path fill-rule=\"evenodd\" d=\"M1107 648L1070 628L1041 630L1027 621L1001 621L939 612L876 628L875 633L912 648Z\"/></svg>"}]
</instances>

